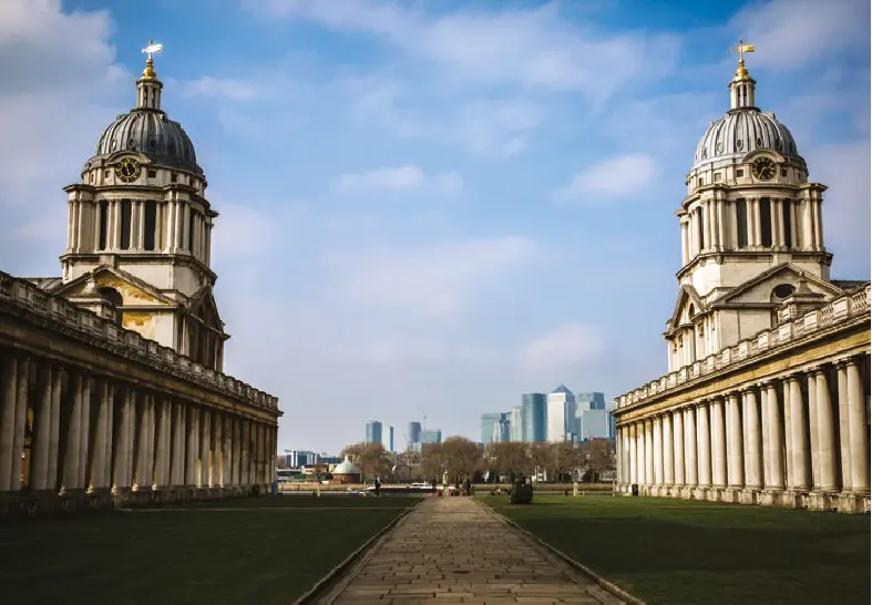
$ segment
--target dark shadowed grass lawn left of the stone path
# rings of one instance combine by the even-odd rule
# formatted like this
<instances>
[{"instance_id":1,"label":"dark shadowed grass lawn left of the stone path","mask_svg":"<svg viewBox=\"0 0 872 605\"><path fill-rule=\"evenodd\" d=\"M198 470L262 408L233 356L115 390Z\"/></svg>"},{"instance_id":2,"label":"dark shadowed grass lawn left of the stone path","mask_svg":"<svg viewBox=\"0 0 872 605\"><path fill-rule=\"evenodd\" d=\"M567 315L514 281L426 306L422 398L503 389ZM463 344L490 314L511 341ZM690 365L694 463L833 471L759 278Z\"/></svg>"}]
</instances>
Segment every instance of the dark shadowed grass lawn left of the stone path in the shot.
<instances>
[{"instance_id":1,"label":"dark shadowed grass lawn left of the stone path","mask_svg":"<svg viewBox=\"0 0 872 605\"><path fill-rule=\"evenodd\" d=\"M243 499L3 524L0 601L287 605L416 502Z\"/></svg>"}]
</instances>

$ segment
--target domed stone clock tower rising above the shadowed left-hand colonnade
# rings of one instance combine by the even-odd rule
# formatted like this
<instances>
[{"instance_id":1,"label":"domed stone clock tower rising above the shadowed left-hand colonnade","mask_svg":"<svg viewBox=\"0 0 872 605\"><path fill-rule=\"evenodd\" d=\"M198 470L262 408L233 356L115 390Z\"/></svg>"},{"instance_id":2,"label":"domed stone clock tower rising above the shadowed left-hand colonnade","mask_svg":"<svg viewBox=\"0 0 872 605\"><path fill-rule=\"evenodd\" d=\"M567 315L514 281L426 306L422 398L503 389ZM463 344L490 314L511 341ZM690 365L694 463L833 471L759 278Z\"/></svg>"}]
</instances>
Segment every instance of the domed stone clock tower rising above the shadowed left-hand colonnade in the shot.
<instances>
[{"instance_id":1,"label":"domed stone clock tower rising above the shadowed left-hand colonnade","mask_svg":"<svg viewBox=\"0 0 872 605\"><path fill-rule=\"evenodd\" d=\"M161 109L163 83L150 44L136 81L136 106L106 127L82 171L65 187L70 221L55 289L99 310L116 301L125 328L222 369L228 336L213 295L212 227L194 145Z\"/></svg>"}]
</instances>

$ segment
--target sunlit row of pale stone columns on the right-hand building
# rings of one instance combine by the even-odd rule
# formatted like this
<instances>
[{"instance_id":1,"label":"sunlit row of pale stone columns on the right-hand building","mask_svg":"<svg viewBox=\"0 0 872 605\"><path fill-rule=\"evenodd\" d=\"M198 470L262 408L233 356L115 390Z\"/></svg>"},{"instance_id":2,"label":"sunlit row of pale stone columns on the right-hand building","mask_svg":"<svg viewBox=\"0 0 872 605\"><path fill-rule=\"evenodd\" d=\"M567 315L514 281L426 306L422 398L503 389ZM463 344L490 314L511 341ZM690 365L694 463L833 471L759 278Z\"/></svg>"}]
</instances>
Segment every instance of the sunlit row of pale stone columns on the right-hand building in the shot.
<instances>
[{"instance_id":1,"label":"sunlit row of pale stone columns on the right-hand building","mask_svg":"<svg viewBox=\"0 0 872 605\"><path fill-rule=\"evenodd\" d=\"M865 356L737 387L617 428L624 490L862 506L870 496Z\"/></svg>"}]
</instances>

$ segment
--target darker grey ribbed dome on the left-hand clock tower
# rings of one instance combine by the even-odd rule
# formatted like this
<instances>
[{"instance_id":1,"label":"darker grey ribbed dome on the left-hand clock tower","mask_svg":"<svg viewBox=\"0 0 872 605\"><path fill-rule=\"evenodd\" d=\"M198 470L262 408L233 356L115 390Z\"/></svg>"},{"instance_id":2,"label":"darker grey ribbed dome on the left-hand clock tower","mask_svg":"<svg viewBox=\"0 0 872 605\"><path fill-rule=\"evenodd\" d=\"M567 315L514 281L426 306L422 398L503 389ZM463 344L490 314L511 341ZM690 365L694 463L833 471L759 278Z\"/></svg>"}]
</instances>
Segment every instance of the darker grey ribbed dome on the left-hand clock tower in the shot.
<instances>
[{"instance_id":1,"label":"darker grey ribbed dome on the left-hand clock tower","mask_svg":"<svg viewBox=\"0 0 872 605\"><path fill-rule=\"evenodd\" d=\"M194 144L182 124L167 119L162 111L137 107L119 115L103 131L95 155L121 151L143 153L157 163L203 173Z\"/></svg>"}]
</instances>

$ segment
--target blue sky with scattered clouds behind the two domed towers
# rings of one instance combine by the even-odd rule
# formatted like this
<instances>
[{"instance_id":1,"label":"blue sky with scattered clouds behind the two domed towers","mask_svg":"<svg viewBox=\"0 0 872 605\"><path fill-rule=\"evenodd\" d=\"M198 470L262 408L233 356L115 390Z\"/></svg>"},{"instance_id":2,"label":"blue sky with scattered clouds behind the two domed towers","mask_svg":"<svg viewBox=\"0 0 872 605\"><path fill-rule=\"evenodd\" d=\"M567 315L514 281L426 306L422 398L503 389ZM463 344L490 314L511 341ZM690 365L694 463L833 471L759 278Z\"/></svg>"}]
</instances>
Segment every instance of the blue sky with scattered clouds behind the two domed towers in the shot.
<instances>
[{"instance_id":1,"label":"blue sky with scattered clouds behind the two domed towers","mask_svg":"<svg viewBox=\"0 0 872 605\"><path fill-rule=\"evenodd\" d=\"M65 185L135 104L141 49L194 141L225 371L279 448L667 371L697 141L757 101L829 186L833 278L869 279L868 0L3 0L0 269L60 275ZM386 430L387 432L387 430Z\"/></svg>"}]
</instances>

